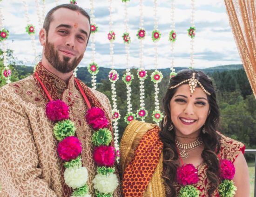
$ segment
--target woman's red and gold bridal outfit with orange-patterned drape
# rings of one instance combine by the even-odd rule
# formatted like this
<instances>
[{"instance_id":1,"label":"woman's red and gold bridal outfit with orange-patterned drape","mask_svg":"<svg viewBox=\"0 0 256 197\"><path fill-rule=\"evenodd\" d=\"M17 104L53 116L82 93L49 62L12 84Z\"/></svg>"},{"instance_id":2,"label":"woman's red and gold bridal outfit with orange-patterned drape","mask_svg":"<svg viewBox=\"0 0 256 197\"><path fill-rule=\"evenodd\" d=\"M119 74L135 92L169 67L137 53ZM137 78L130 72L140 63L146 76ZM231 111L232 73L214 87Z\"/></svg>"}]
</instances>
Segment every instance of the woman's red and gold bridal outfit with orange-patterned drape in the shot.
<instances>
[{"instance_id":1,"label":"woman's red and gold bridal outfit with orange-patterned drape","mask_svg":"<svg viewBox=\"0 0 256 197\"><path fill-rule=\"evenodd\" d=\"M120 163L123 175L124 197L166 197L163 170L163 143L159 139L160 128L154 124L132 121L123 133L120 144ZM221 134L220 156L234 162L245 146ZM206 176L207 165L197 166L199 182L196 188L200 197L207 197L210 187ZM182 185L175 183L178 193ZM217 191L214 194L219 197Z\"/></svg>"}]
</instances>

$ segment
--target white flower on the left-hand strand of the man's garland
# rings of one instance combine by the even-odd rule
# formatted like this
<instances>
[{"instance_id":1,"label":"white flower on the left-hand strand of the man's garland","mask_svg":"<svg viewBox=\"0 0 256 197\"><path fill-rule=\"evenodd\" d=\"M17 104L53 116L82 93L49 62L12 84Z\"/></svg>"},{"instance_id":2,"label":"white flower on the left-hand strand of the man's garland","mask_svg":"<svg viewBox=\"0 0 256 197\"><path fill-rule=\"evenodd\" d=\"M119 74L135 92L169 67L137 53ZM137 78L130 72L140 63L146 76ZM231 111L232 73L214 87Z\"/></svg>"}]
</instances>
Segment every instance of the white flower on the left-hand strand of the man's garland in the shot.
<instances>
[{"instance_id":1,"label":"white flower on the left-hand strand of the man's garland","mask_svg":"<svg viewBox=\"0 0 256 197\"><path fill-rule=\"evenodd\" d=\"M64 172L64 179L69 187L79 188L85 185L88 180L87 169L81 166L69 167Z\"/></svg>"}]
</instances>

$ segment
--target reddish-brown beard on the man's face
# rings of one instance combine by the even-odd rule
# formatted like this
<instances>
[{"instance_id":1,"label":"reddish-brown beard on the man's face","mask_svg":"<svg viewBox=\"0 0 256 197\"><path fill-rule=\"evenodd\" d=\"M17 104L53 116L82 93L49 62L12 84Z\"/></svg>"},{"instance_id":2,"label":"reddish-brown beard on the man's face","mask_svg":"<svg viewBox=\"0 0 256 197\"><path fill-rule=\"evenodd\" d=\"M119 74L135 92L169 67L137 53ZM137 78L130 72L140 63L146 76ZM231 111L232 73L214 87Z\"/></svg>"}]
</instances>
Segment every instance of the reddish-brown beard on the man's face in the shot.
<instances>
[{"instance_id":1,"label":"reddish-brown beard on the man's face","mask_svg":"<svg viewBox=\"0 0 256 197\"><path fill-rule=\"evenodd\" d=\"M68 73L74 70L81 62L83 54L79 57L75 57L72 62L69 63L70 57L63 56L63 61L59 57L58 51L54 50L54 44L49 43L46 40L44 55L48 62L58 71L62 73Z\"/></svg>"}]
</instances>

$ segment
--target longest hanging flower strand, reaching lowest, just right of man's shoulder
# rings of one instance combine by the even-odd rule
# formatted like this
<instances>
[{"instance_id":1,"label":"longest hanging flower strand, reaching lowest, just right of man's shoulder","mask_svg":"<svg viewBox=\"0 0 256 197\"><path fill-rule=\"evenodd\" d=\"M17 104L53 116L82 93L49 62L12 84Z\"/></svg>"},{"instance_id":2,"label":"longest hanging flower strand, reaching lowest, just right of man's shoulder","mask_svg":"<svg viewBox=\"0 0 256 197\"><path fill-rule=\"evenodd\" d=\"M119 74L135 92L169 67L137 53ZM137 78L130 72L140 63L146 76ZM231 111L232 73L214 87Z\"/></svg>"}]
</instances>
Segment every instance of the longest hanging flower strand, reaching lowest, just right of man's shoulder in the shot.
<instances>
[{"instance_id":1,"label":"longest hanging flower strand, reaching lowest, just right of man's shoulder","mask_svg":"<svg viewBox=\"0 0 256 197\"><path fill-rule=\"evenodd\" d=\"M111 82L111 98L113 102L112 106L112 120L113 120L113 129L114 129L114 143L115 143L115 151L116 151L116 161L119 163L119 132L118 132L118 120L120 119L120 113L117 109L116 104L116 88L115 88L115 82L119 79L119 75L116 70L114 70L114 44L113 41L115 40L115 32L112 30L113 20L112 20L112 0L108 0L109 6L109 33L108 33L108 40L109 40L109 51L110 51L110 59L111 59L111 69L108 75L109 81Z\"/></svg>"}]
</instances>

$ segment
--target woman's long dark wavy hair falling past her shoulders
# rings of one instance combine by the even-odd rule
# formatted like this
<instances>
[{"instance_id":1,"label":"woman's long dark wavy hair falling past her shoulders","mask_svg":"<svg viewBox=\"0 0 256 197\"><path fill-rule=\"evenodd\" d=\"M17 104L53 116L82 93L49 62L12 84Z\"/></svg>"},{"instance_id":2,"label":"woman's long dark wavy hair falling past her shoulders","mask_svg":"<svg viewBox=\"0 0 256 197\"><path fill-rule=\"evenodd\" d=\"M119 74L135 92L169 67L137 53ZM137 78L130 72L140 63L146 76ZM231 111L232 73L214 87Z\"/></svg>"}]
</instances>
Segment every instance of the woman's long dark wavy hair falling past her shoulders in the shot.
<instances>
[{"instance_id":1,"label":"woman's long dark wavy hair falling past her shoulders","mask_svg":"<svg viewBox=\"0 0 256 197\"><path fill-rule=\"evenodd\" d=\"M205 121L204 128L207 133L200 133L202 141L204 143L204 150L202 151L203 162L208 165L207 178L210 182L210 189L208 190L209 197L213 194L219 184L218 172L219 162L217 154L220 150L220 135L216 133L219 123L219 107L216 102L216 93L213 88L211 80L201 71L195 70L182 70L178 74L171 78L169 87L175 86L178 83L186 79L192 78L192 74L195 72L195 79L197 79L204 89L206 89L211 95L207 95L209 102L210 113ZM189 83L189 82L186 82ZM184 84L186 84L184 83ZM165 186L168 197L175 197L176 191L174 183L176 182L176 170L179 166L179 156L175 147L175 132L169 131L168 127L171 123L169 103L175 94L175 89L168 89L163 98L163 108L167 115L167 124L163 127L161 124L160 139L163 142L163 174L162 178L165 180Z\"/></svg>"}]
</instances>

